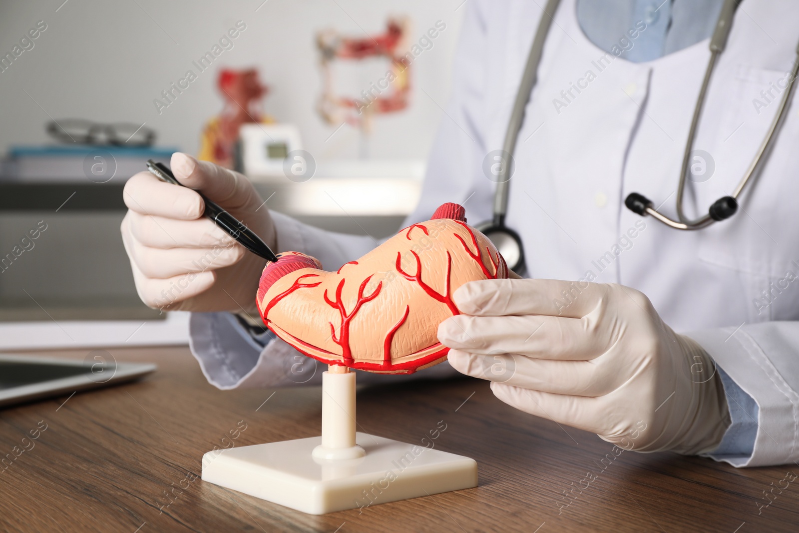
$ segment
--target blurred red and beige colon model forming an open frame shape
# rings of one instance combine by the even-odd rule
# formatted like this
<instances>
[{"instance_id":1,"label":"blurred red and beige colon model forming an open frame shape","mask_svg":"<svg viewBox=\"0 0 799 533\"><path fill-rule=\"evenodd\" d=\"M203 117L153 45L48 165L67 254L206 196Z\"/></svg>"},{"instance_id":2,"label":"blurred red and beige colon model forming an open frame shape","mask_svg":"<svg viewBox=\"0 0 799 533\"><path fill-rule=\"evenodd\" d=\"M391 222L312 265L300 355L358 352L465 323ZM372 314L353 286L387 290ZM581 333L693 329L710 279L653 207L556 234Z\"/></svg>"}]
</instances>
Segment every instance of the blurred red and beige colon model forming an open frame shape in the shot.
<instances>
[{"instance_id":1,"label":"blurred red and beige colon model forming an open frame shape","mask_svg":"<svg viewBox=\"0 0 799 533\"><path fill-rule=\"evenodd\" d=\"M413 56L407 54L407 18L389 18L383 34L364 38L344 37L335 30L316 34L320 51L322 93L317 109L329 125L342 122L360 128L364 136L370 131L372 116L377 113L396 113L406 109L411 89L410 68ZM336 59L363 60L387 58L391 62L385 75L374 80L355 97L337 95L333 89L331 64Z\"/></svg>"}]
</instances>

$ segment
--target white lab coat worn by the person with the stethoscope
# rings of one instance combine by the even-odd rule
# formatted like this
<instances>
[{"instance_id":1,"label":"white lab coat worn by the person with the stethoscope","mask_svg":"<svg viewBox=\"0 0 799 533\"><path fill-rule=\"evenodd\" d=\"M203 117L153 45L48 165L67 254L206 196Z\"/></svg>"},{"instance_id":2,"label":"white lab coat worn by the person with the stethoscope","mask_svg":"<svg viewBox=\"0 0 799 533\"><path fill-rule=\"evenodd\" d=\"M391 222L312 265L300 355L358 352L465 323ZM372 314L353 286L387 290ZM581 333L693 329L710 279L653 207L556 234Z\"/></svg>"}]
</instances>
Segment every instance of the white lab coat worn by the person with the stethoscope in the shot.
<instances>
[{"instance_id":1,"label":"white lab coat worn by the person with the stethoscope","mask_svg":"<svg viewBox=\"0 0 799 533\"><path fill-rule=\"evenodd\" d=\"M451 101L410 221L427 219L445 201L465 201L471 223L491 217L495 184L483 174L483 157L502 147L539 4L467 4ZM776 90L770 103L761 90L787 79L797 41L799 3L742 3L694 143L711 154L715 170L691 184L690 215L706 213L745 172L778 105ZM679 232L623 205L640 192L674 217L709 57L706 40L653 62L614 58L582 33L575 1L563 0L519 134L507 224L523 239L529 276L616 282L649 296L666 323L691 332L757 401L754 452L736 464L789 463L799 459L799 105L789 109L768 165L729 221ZM572 84L582 89L566 100L561 91ZM281 250L311 253L328 269L373 246L368 237L332 235L280 215L276 225ZM272 344L272 357L289 356L287 345ZM266 375L264 364L252 375Z\"/></svg>"}]
</instances>

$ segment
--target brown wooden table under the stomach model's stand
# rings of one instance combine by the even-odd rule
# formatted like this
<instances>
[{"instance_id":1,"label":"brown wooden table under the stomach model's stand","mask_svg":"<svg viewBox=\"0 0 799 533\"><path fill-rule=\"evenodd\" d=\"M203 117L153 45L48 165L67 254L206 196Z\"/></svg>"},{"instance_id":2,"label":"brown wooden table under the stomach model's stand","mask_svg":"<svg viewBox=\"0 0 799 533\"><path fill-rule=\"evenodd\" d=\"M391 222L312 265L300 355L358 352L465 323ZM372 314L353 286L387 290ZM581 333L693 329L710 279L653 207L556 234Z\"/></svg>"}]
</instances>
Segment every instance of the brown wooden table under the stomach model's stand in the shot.
<instances>
[{"instance_id":1,"label":"brown wooden table under the stomach model's stand","mask_svg":"<svg viewBox=\"0 0 799 533\"><path fill-rule=\"evenodd\" d=\"M82 360L85 352L47 355ZM615 457L597 436L516 411L472 379L360 390L358 422L361 431L421 444L443 420L436 447L476 459L479 487L304 515L204 483L201 457L230 443L319 435L320 388L221 392L188 348L110 352L159 370L0 411L0 455L34 443L0 470L0 531L799 531L799 479L778 488L797 465ZM43 424L37 440L23 443ZM771 489L773 503L758 507Z\"/></svg>"}]
</instances>

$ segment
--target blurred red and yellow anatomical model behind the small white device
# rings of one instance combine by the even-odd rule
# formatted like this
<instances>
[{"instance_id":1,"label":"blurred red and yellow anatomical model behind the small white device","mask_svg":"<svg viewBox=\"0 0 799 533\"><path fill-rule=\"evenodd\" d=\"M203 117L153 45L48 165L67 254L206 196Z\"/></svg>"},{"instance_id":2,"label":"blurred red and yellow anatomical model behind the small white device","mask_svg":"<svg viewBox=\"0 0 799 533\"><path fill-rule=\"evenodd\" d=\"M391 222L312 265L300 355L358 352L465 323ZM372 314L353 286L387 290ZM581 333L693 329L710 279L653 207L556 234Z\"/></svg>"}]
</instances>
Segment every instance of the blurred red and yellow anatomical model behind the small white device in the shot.
<instances>
[{"instance_id":1,"label":"blurred red and yellow anatomical model behind the small white device","mask_svg":"<svg viewBox=\"0 0 799 533\"><path fill-rule=\"evenodd\" d=\"M218 83L225 107L205 125L198 157L233 169L240 126L248 122L272 124L274 120L261 112L260 100L268 87L260 83L256 69L221 70Z\"/></svg>"}]
</instances>

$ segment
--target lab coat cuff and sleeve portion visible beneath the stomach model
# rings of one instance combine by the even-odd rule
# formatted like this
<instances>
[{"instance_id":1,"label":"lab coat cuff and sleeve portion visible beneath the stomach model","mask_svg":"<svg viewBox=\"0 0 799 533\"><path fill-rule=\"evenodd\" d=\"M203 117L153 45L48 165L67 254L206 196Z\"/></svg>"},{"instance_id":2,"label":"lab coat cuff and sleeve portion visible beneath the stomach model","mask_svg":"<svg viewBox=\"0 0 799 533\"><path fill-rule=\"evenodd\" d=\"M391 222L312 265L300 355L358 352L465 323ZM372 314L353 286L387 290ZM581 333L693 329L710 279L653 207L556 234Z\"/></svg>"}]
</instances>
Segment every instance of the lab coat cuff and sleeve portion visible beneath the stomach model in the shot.
<instances>
[{"instance_id":1,"label":"lab coat cuff and sleeve portion visible beneath the stomach model","mask_svg":"<svg viewBox=\"0 0 799 533\"><path fill-rule=\"evenodd\" d=\"M189 319L189 346L210 384L232 388L320 385L327 365L297 352L274 333L253 333L229 312L194 312ZM412 376L358 372L359 384L387 384L409 378L458 376L448 362Z\"/></svg>"}]
</instances>

